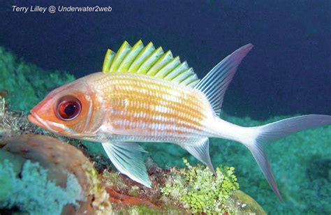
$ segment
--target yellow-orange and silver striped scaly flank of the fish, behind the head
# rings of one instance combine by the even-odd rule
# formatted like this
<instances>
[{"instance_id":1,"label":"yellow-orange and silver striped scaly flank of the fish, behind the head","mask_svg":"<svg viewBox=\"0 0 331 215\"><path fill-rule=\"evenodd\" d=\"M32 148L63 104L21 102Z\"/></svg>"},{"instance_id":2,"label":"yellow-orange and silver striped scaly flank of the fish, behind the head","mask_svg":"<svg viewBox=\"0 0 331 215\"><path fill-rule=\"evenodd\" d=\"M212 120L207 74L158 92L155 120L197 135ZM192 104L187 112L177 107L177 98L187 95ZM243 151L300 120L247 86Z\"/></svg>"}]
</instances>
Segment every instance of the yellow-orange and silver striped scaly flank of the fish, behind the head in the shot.
<instances>
[{"instance_id":1,"label":"yellow-orange and silver striped scaly flank of the fish, behind the head","mask_svg":"<svg viewBox=\"0 0 331 215\"><path fill-rule=\"evenodd\" d=\"M96 74L99 77L89 80L89 84L102 91L108 103L119 103L109 112L110 126L115 130L139 130L137 139L148 135L155 140L200 136L207 131L203 121L212 117L212 108L204 111L210 105L203 95L197 96L199 91L172 86L171 82L155 77L140 79L140 75L131 73Z\"/></svg>"}]
</instances>

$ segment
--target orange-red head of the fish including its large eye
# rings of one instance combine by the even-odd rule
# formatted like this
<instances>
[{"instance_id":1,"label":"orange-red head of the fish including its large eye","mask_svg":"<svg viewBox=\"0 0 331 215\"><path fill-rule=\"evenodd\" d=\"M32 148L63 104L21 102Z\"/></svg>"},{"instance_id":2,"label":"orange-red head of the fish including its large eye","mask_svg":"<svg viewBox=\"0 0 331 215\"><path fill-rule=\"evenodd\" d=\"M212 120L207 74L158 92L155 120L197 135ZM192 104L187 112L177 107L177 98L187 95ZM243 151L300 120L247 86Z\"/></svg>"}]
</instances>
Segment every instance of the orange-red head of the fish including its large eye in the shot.
<instances>
[{"instance_id":1,"label":"orange-red head of the fish including its large eye","mask_svg":"<svg viewBox=\"0 0 331 215\"><path fill-rule=\"evenodd\" d=\"M97 108L96 92L81 78L51 91L28 119L52 133L84 139L91 135L87 131Z\"/></svg>"}]
</instances>

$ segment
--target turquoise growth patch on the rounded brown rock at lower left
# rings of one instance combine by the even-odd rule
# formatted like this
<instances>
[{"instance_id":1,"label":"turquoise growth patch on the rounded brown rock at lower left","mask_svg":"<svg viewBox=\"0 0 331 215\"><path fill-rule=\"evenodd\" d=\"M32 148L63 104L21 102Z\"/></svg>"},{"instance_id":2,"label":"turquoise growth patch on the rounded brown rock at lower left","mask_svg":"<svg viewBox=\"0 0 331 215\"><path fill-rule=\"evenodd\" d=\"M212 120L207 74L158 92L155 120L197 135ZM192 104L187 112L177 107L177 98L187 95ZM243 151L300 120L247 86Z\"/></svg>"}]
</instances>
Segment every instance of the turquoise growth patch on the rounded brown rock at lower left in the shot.
<instances>
[{"instance_id":1,"label":"turquoise growth patch on the rounded brown rock at lower left","mask_svg":"<svg viewBox=\"0 0 331 215\"><path fill-rule=\"evenodd\" d=\"M39 163L29 160L23 163L22 171L16 172L13 160L0 163L0 208L18 207L21 212L36 214L61 214L65 205L79 208L78 202L84 201L78 180L70 173L66 187L61 188L47 180L47 170ZM20 175L20 177L17 177Z\"/></svg>"}]
</instances>

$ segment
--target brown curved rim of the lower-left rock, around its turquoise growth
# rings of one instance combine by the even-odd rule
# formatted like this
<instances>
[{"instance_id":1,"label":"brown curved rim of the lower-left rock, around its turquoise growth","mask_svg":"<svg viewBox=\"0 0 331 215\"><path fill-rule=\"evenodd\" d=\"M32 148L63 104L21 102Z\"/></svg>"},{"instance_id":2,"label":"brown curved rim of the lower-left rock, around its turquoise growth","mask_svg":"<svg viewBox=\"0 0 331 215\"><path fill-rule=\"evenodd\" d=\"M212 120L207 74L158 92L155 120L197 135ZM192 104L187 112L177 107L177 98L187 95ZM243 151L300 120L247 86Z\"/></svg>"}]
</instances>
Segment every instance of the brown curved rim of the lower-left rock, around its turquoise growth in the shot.
<instances>
[{"instance_id":1,"label":"brown curved rim of the lower-left rock, around its turquoise growth","mask_svg":"<svg viewBox=\"0 0 331 215\"><path fill-rule=\"evenodd\" d=\"M15 167L21 167L27 160L39 163L47 170L47 179L57 186L66 188L68 173L78 179L84 201L63 207L62 214L110 214L112 207L108 193L98 179L93 164L81 151L45 135L21 135L0 141L0 151L15 156ZM1 154L0 154L1 156ZM4 158L0 158L3 160ZM10 159L13 160L13 159Z\"/></svg>"}]
</instances>

